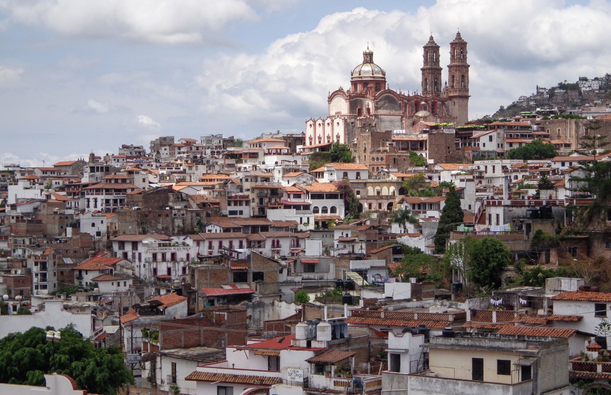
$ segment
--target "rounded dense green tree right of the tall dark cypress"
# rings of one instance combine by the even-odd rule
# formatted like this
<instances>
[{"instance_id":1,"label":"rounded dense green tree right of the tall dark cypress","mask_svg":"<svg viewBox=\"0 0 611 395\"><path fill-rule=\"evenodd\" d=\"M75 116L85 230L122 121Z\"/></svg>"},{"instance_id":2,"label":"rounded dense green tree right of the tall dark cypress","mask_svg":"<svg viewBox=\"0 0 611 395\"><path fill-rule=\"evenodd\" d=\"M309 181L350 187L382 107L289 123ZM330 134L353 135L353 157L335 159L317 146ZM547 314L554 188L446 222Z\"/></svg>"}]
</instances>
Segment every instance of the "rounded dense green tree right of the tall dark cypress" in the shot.
<instances>
[{"instance_id":1,"label":"rounded dense green tree right of the tall dark cypress","mask_svg":"<svg viewBox=\"0 0 611 395\"><path fill-rule=\"evenodd\" d=\"M484 237L474 247L467 275L475 286L499 288L500 272L509 262L509 248L502 241Z\"/></svg>"}]
</instances>

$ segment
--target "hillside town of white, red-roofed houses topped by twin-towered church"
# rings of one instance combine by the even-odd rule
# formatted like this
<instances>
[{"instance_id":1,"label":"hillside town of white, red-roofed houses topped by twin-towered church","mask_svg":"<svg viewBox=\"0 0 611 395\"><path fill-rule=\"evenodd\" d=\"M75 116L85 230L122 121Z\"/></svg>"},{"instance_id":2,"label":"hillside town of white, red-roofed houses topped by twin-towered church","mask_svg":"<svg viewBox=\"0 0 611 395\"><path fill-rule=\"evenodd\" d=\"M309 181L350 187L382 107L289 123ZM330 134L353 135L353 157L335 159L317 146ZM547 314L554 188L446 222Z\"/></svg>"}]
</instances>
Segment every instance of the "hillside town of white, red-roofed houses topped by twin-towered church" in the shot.
<instances>
[{"instance_id":1,"label":"hillside town of white, red-roofed houses topped by twin-towered church","mask_svg":"<svg viewBox=\"0 0 611 395\"><path fill-rule=\"evenodd\" d=\"M68 327L120 350L124 393L611 391L611 109L469 121L449 45L412 92L365 47L299 134L5 164L0 341L48 330L59 366Z\"/></svg>"}]
</instances>

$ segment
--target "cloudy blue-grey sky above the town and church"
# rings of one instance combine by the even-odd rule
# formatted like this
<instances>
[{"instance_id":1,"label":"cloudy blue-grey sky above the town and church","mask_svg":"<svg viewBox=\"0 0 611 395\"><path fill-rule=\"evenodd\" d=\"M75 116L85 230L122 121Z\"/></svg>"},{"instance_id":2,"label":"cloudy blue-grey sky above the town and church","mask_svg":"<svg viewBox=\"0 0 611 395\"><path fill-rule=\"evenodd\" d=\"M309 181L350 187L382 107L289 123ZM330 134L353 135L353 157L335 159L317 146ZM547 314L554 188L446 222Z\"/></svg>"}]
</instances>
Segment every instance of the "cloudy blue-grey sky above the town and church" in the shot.
<instances>
[{"instance_id":1,"label":"cloudy blue-grey sky above the town and church","mask_svg":"<svg viewBox=\"0 0 611 395\"><path fill-rule=\"evenodd\" d=\"M301 132L369 45L420 90L469 44L469 117L611 71L611 0L0 0L0 159L50 166L158 136Z\"/></svg>"}]
</instances>

